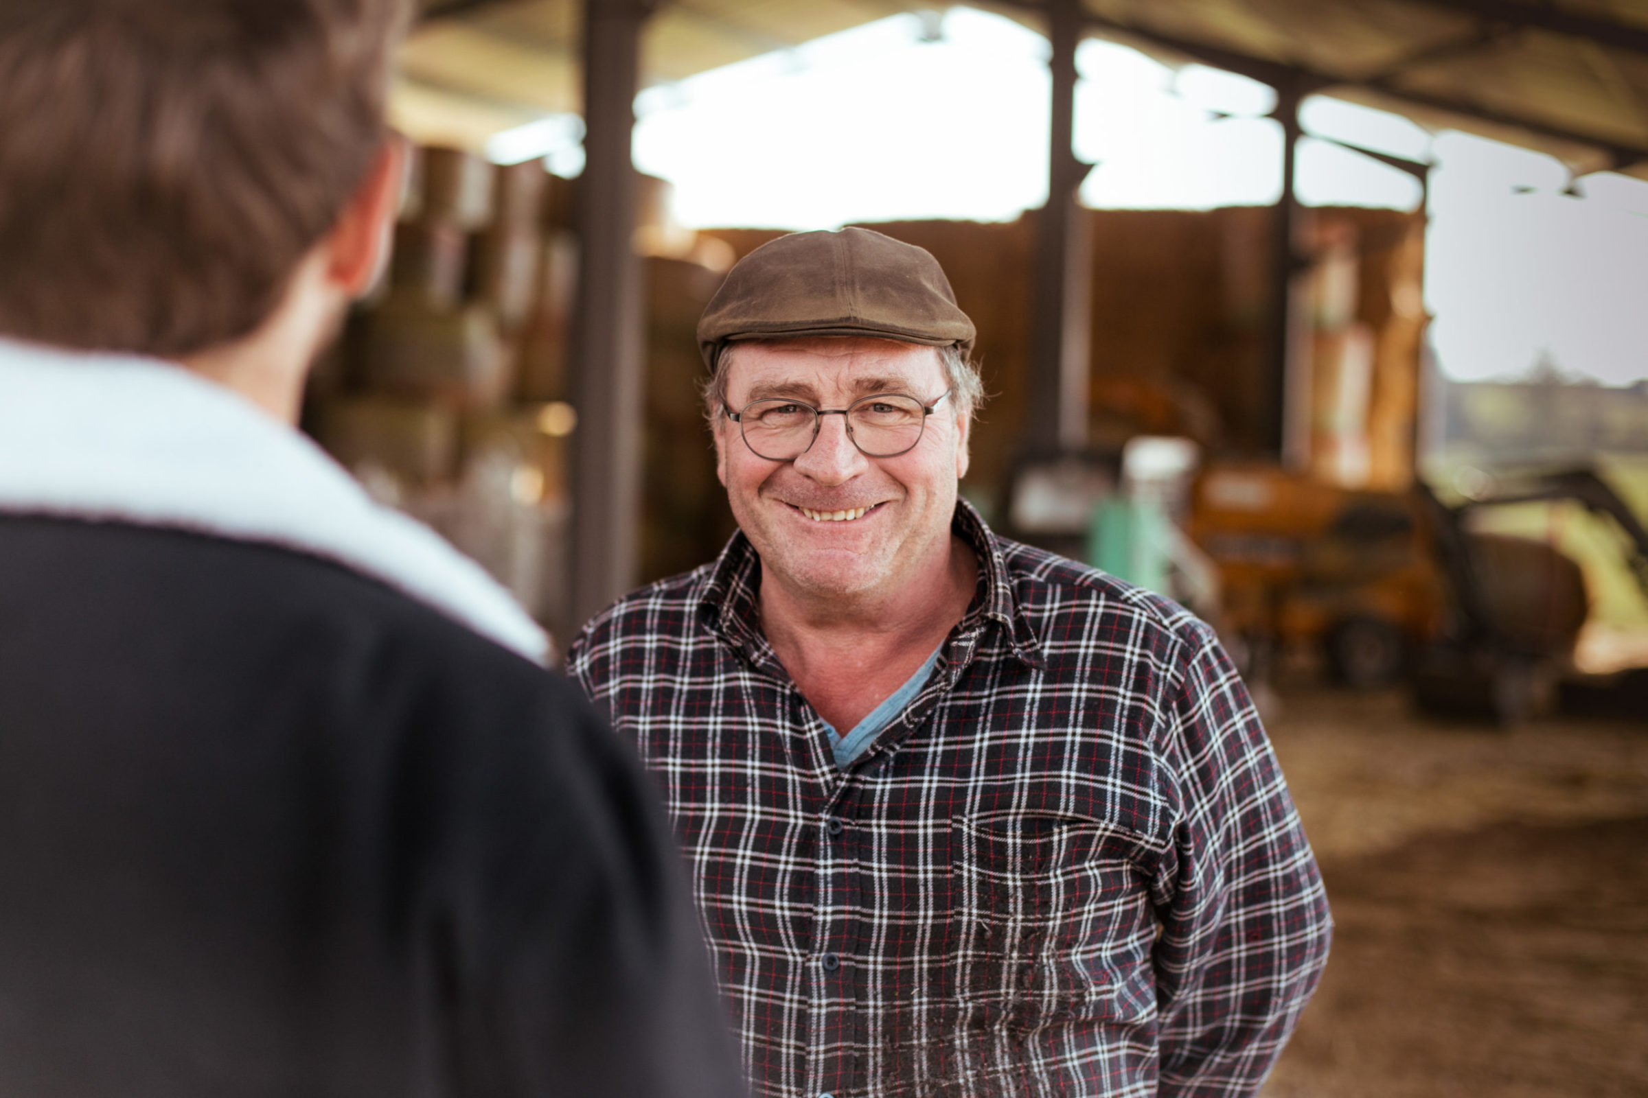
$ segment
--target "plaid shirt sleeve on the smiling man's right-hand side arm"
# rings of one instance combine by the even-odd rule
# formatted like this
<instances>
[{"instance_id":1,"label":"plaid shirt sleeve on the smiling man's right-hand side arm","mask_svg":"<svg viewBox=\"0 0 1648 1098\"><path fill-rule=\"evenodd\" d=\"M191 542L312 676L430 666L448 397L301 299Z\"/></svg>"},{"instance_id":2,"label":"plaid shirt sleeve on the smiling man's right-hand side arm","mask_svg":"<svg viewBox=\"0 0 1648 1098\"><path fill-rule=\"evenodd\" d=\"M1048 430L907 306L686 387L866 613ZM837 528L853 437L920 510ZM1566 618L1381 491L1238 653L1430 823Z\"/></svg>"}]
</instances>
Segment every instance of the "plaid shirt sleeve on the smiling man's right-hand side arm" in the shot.
<instances>
[{"instance_id":1,"label":"plaid shirt sleeve on the smiling man's right-hand side arm","mask_svg":"<svg viewBox=\"0 0 1648 1098\"><path fill-rule=\"evenodd\" d=\"M1206 627L1162 742L1177 803L1154 882L1160 1090L1259 1090L1327 961L1327 892L1236 668Z\"/></svg>"}]
</instances>

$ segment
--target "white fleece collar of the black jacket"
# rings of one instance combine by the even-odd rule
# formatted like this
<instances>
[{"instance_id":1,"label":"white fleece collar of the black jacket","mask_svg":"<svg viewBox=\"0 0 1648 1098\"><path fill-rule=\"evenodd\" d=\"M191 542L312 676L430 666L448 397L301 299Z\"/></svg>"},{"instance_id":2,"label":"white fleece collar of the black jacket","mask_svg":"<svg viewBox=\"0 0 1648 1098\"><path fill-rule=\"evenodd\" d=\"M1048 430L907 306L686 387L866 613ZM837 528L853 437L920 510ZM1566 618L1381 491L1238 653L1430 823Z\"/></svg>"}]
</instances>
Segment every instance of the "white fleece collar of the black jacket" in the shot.
<instances>
[{"instance_id":1,"label":"white fleece collar of the black jacket","mask_svg":"<svg viewBox=\"0 0 1648 1098\"><path fill-rule=\"evenodd\" d=\"M0 339L0 512L279 545L547 658L544 630L480 565L298 431L168 362Z\"/></svg>"}]
</instances>

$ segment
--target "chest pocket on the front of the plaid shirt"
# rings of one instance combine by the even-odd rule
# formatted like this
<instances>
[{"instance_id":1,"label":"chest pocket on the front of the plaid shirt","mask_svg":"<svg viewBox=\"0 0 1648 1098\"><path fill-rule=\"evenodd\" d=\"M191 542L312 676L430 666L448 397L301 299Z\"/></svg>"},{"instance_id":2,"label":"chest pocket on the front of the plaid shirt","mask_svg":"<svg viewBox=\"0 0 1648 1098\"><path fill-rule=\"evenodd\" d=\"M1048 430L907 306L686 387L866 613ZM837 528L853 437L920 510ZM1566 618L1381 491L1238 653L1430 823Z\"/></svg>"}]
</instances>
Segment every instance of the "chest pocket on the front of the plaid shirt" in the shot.
<instances>
[{"instance_id":1,"label":"chest pocket on the front of the plaid shirt","mask_svg":"<svg viewBox=\"0 0 1648 1098\"><path fill-rule=\"evenodd\" d=\"M1149 1011L1154 915L1129 848L1066 817L951 820L953 971L976 1026Z\"/></svg>"}]
</instances>

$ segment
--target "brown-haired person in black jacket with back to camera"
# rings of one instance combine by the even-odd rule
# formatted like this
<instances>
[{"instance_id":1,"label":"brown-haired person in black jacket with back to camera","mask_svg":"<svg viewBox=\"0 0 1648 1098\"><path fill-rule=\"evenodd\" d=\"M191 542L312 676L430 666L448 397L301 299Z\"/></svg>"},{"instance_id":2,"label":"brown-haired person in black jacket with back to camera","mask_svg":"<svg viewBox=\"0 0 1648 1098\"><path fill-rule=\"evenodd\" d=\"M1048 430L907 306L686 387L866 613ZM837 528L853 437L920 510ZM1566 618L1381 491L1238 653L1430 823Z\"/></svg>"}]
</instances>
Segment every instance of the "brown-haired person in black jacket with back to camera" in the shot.
<instances>
[{"instance_id":1,"label":"brown-haired person in black jacket with back to camera","mask_svg":"<svg viewBox=\"0 0 1648 1098\"><path fill-rule=\"evenodd\" d=\"M743 1093L646 775L293 421L392 0L0 5L0 1095Z\"/></svg>"}]
</instances>

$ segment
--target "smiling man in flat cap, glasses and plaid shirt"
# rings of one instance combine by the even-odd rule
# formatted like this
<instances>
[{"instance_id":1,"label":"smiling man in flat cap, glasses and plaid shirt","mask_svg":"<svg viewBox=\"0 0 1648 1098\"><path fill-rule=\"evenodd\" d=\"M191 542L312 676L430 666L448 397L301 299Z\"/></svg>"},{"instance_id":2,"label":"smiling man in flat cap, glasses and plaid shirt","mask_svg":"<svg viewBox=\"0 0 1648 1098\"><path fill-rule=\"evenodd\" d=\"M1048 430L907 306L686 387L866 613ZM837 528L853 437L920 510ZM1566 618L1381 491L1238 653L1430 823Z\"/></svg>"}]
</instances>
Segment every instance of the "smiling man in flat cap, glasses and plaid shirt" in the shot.
<instances>
[{"instance_id":1,"label":"smiling man in flat cap, glasses and plaid shirt","mask_svg":"<svg viewBox=\"0 0 1648 1098\"><path fill-rule=\"evenodd\" d=\"M699 323L738 533L570 670L658 775L761 1095L1251 1095L1328 914L1211 630L964 500L925 250L781 237Z\"/></svg>"}]
</instances>

